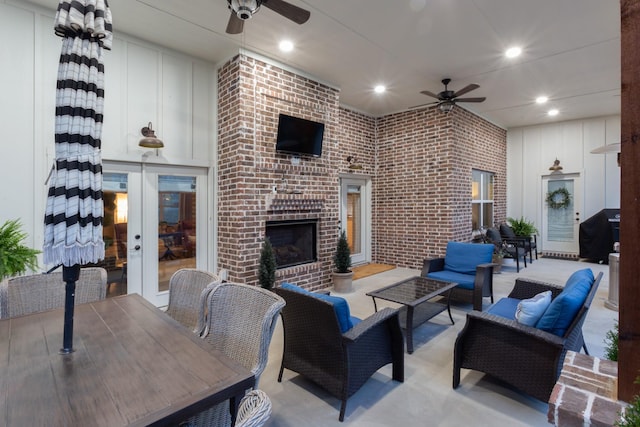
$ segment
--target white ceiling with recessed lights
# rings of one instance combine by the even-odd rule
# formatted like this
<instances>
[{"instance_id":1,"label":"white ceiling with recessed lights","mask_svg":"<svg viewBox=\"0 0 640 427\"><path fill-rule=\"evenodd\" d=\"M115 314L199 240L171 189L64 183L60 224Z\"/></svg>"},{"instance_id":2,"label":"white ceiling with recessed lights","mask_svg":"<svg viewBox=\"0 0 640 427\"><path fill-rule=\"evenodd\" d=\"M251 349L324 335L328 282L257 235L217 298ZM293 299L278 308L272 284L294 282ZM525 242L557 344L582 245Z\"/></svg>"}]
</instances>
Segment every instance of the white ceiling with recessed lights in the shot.
<instances>
[{"instance_id":1,"label":"white ceiling with recessed lights","mask_svg":"<svg viewBox=\"0 0 640 427\"><path fill-rule=\"evenodd\" d=\"M479 84L464 96L487 100L462 105L504 128L620 114L618 0L291 0L311 12L307 23L262 7L233 36L226 0L108 1L116 33L213 63L242 47L338 87L343 105L372 116L432 101L420 91L440 92L444 77L452 90ZM293 52L279 52L284 37ZM508 60L512 45L523 54ZM534 102L542 94L545 106Z\"/></svg>"}]
</instances>

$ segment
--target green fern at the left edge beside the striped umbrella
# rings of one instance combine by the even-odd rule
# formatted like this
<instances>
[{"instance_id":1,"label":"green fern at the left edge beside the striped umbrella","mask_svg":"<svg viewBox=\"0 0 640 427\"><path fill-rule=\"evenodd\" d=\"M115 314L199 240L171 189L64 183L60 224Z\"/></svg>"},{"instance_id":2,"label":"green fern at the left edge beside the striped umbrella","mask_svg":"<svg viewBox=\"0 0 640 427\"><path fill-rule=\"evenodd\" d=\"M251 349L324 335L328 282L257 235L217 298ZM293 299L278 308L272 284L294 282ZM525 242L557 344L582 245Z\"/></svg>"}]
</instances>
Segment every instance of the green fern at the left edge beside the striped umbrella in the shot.
<instances>
[{"instance_id":1,"label":"green fern at the left edge beside the striped umbrella","mask_svg":"<svg viewBox=\"0 0 640 427\"><path fill-rule=\"evenodd\" d=\"M0 280L38 268L40 251L25 246L26 238L20 220L9 220L0 226Z\"/></svg>"}]
</instances>

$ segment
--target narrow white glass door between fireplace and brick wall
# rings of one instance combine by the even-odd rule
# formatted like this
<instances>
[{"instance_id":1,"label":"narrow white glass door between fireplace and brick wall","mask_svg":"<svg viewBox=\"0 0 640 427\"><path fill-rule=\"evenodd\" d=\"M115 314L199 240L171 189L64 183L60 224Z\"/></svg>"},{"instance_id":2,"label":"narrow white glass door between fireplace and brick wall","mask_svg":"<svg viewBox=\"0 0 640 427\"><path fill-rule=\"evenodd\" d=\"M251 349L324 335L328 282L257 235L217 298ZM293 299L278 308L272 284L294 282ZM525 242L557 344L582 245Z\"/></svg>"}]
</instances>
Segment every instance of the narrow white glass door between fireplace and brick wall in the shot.
<instances>
[{"instance_id":1,"label":"narrow white glass door between fireplace and brick wall","mask_svg":"<svg viewBox=\"0 0 640 427\"><path fill-rule=\"evenodd\" d=\"M340 224L346 231L351 263L371 260L371 195L369 181L359 178L340 180Z\"/></svg>"}]
</instances>

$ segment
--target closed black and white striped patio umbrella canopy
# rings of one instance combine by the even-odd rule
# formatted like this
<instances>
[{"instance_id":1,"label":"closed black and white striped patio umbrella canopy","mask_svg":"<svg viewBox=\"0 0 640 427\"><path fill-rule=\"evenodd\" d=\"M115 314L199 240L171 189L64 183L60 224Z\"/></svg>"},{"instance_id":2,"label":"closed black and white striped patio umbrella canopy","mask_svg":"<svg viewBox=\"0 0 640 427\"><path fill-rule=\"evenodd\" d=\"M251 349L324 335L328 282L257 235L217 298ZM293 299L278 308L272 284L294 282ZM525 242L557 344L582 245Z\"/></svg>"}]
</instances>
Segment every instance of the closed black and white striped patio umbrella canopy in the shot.
<instances>
[{"instance_id":1,"label":"closed black and white striped patio umbrella canopy","mask_svg":"<svg viewBox=\"0 0 640 427\"><path fill-rule=\"evenodd\" d=\"M55 168L45 210L44 262L72 266L104 259L102 113L104 49L111 48L106 0L61 0L63 37L56 91Z\"/></svg>"}]
</instances>

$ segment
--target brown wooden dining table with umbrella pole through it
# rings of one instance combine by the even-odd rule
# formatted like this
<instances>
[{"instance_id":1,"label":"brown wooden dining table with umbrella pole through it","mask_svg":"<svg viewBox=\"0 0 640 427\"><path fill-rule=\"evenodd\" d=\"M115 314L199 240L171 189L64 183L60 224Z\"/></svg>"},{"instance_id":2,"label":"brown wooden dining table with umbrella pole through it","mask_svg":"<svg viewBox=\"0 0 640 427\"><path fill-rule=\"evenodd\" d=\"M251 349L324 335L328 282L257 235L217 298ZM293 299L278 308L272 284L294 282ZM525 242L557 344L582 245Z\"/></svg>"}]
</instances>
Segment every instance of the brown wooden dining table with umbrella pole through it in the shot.
<instances>
[{"instance_id":1,"label":"brown wooden dining table with umbrella pole through it","mask_svg":"<svg viewBox=\"0 0 640 427\"><path fill-rule=\"evenodd\" d=\"M177 425L230 401L253 374L137 294L0 320L0 426Z\"/></svg>"}]
</instances>

